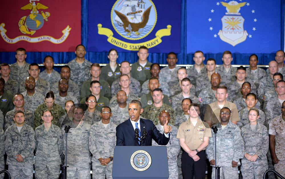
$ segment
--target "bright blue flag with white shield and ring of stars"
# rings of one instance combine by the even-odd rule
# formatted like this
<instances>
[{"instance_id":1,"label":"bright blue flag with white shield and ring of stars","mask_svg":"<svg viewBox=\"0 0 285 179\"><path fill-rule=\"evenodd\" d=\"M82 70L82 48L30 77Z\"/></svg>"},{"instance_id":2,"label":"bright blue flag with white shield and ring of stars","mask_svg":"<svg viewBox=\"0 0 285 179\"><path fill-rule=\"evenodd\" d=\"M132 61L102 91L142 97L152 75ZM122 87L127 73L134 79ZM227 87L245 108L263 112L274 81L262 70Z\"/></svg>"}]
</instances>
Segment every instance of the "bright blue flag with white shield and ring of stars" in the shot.
<instances>
[{"instance_id":1,"label":"bright blue flag with white shield and ring of stars","mask_svg":"<svg viewBox=\"0 0 285 179\"><path fill-rule=\"evenodd\" d=\"M280 0L187 1L187 53L275 53Z\"/></svg>"}]
</instances>

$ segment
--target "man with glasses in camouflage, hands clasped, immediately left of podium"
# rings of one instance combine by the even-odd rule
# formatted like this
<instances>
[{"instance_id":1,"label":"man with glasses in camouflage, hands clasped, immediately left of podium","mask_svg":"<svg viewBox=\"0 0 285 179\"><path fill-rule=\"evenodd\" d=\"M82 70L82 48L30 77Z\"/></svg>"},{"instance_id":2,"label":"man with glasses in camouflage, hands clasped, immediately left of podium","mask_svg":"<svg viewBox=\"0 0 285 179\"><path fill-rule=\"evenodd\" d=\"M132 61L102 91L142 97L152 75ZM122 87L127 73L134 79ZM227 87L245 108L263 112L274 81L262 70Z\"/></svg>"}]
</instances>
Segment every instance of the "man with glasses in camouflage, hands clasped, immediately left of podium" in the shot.
<instances>
[{"instance_id":1,"label":"man with glasses in camouflage, hands clasped, immediately left of podium","mask_svg":"<svg viewBox=\"0 0 285 179\"><path fill-rule=\"evenodd\" d=\"M110 121L112 112L109 107L103 107L100 116L102 120L91 126L89 135L89 150L93 155L92 178L112 179L117 125Z\"/></svg>"}]
</instances>

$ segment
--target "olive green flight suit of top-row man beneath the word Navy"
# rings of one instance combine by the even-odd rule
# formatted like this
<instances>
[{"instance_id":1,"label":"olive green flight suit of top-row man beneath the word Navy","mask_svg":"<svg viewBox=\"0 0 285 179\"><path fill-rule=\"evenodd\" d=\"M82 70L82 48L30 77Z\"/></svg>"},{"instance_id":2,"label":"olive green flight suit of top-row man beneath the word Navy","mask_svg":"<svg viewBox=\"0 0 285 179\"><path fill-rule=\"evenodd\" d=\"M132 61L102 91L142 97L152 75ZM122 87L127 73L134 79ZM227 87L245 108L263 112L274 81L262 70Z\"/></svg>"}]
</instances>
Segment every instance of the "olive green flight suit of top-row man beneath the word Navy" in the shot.
<instances>
[{"instance_id":1,"label":"olive green flight suit of top-row man beneath the word Navy","mask_svg":"<svg viewBox=\"0 0 285 179\"><path fill-rule=\"evenodd\" d=\"M132 64L132 70L131 70L131 76L135 79L137 79L140 84L142 85L143 82L145 82L146 80L148 80L151 77L150 74L150 66L152 65L151 62L147 61L146 65L144 67L142 67L139 64L139 61L137 61L136 63Z\"/></svg>"}]
</instances>

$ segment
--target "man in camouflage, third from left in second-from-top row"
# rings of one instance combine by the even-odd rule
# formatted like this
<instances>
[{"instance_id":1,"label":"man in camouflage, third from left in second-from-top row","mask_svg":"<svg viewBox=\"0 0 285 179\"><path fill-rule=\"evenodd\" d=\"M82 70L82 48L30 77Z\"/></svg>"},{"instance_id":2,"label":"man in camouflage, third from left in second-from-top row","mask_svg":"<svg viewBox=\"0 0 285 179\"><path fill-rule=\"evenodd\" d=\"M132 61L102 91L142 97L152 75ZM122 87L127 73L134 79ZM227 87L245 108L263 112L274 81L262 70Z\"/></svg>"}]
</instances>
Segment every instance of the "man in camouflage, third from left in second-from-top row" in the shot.
<instances>
[{"instance_id":1,"label":"man in camouflage, third from left in second-from-top row","mask_svg":"<svg viewBox=\"0 0 285 179\"><path fill-rule=\"evenodd\" d=\"M68 92L72 93L74 96L76 96L78 99L80 99L80 88L78 87L78 85L73 82L72 80L70 80L70 68L67 65L64 65L61 67L60 70L60 78L65 78L66 80L68 80ZM52 84L51 86L51 91L54 92L54 94L58 93L58 82Z\"/></svg>"}]
</instances>

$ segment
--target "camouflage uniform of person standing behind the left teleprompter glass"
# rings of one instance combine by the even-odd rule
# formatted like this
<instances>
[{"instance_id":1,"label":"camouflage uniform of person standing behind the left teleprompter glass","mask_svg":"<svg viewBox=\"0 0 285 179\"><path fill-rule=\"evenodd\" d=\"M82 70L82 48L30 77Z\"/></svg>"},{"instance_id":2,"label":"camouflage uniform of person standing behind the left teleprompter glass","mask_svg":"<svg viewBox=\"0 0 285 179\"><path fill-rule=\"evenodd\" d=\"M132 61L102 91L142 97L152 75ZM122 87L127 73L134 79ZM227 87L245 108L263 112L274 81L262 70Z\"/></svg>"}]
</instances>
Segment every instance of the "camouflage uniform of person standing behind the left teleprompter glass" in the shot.
<instances>
[{"instance_id":1,"label":"camouflage uniform of person standing behind the left teleprompter glass","mask_svg":"<svg viewBox=\"0 0 285 179\"><path fill-rule=\"evenodd\" d=\"M67 141L67 155L68 161L67 165L67 176L70 179L76 178L84 178L90 179L90 162L91 162L91 154L89 152L89 132L90 132L91 124L82 121L80 125L76 128L71 128L68 132L68 141ZM64 131L63 131L64 133ZM66 148L66 140L64 137L64 151L65 154Z\"/></svg>"}]
</instances>

